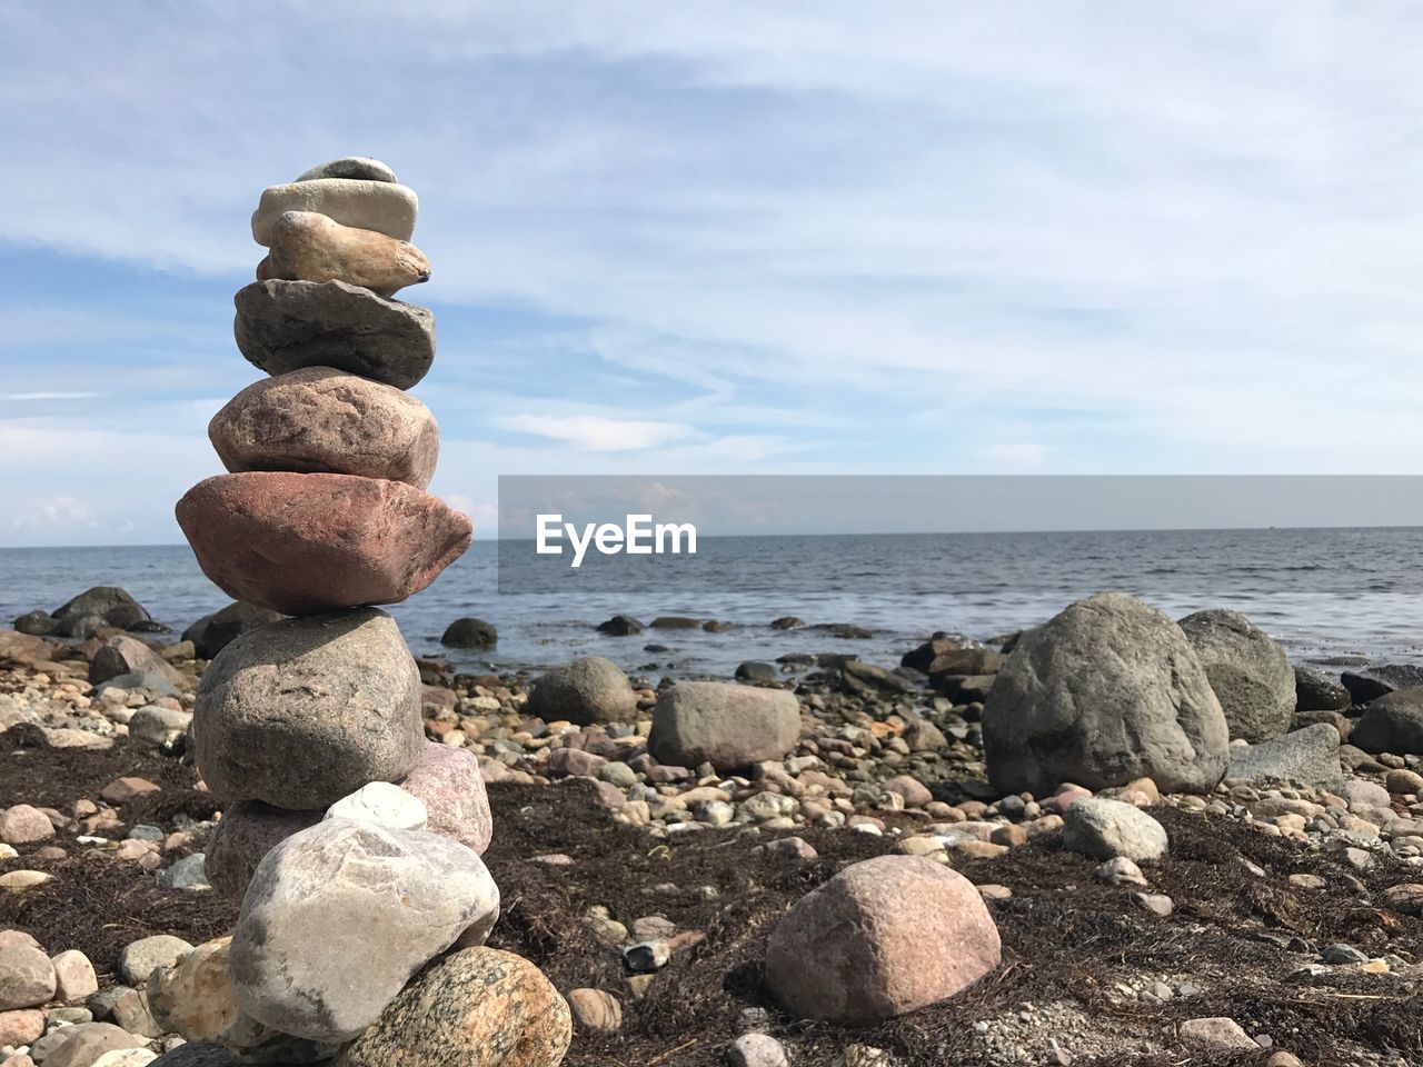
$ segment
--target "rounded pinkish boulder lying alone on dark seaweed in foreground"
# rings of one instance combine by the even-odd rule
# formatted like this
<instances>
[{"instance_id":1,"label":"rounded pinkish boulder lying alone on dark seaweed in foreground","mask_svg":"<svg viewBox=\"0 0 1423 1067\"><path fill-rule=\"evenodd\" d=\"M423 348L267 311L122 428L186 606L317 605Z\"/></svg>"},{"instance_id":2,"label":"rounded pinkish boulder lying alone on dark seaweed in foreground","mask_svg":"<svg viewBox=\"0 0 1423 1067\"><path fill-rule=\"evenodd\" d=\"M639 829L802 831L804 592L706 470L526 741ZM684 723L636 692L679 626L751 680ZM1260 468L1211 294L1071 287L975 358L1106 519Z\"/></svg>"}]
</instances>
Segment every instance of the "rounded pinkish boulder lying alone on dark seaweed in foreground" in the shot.
<instances>
[{"instance_id":1,"label":"rounded pinkish boulder lying alone on dark seaweed in foreground","mask_svg":"<svg viewBox=\"0 0 1423 1067\"><path fill-rule=\"evenodd\" d=\"M793 1014L859 1024L951 997L999 959L998 928L972 882L922 856L877 856L785 913L766 980Z\"/></svg>"}]
</instances>

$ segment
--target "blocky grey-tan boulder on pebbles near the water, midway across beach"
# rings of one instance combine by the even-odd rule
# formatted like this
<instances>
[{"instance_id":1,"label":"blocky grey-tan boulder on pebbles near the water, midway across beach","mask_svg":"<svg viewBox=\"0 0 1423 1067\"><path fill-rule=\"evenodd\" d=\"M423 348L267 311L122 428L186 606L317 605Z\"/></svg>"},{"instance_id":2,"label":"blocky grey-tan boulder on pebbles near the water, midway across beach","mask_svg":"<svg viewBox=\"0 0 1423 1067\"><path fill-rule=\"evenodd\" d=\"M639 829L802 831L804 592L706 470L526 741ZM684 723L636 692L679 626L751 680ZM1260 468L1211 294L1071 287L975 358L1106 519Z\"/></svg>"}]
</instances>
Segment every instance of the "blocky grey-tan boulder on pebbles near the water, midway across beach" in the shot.
<instances>
[{"instance_id":1,"label":"blocky grey-tan boulder on pebbles near the water, midway across beach","mask_svg":"<svg viewBox=\"0 0 1423 1067\"><path fill-rule=\"evenodd\" d=\"M800 738L800 701L783 689L683 681L657 697L647 750L657 763L719 771L784 760Z\"/></svg>"}]
</instances>

